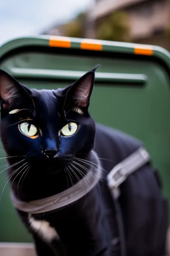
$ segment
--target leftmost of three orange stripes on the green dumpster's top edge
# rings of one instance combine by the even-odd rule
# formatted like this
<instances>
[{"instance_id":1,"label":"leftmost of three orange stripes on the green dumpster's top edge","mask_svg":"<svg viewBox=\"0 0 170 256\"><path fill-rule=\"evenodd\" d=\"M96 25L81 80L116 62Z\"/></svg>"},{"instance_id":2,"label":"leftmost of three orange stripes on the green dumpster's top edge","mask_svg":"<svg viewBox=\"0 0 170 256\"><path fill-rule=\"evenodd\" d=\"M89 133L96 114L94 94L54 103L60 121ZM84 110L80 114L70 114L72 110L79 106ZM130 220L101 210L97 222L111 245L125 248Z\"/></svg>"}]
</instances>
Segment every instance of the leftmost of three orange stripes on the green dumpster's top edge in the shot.
<instances>
[{"instance_id":1,"label":"leftmost of three orange stripes on the green dumpster's top edge","mask_svg":"<svg viewBox=\"0 0 170 256\"><path fill-rule=\"evenodd\" d=\"M70 48L71 47L71 39L69 37L51 37L49 39L50 47L63 47Z\"/></svg>"}]
</instances>

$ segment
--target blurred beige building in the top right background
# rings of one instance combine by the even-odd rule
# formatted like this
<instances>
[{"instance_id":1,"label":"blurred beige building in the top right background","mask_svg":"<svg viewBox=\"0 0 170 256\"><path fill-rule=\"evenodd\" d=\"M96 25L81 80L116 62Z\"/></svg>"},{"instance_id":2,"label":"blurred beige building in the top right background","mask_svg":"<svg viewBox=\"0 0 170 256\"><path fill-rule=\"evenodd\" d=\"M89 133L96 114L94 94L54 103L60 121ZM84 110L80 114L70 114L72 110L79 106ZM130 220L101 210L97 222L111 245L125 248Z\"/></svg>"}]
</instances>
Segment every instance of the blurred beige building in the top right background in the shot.
<instances>
[{"instance_id":1,"label":"blurred beige building in the top right background","mask_svg":"<svg viewBox=\"0 0 170 256\"><path fill-rule=\"evenodd\" d=\"M159 44L170 50L169 0L96 0L95 7L89 13L89 20L98 26L117 11L127 14L131 41Z\"/></svg>"}]
</instances>

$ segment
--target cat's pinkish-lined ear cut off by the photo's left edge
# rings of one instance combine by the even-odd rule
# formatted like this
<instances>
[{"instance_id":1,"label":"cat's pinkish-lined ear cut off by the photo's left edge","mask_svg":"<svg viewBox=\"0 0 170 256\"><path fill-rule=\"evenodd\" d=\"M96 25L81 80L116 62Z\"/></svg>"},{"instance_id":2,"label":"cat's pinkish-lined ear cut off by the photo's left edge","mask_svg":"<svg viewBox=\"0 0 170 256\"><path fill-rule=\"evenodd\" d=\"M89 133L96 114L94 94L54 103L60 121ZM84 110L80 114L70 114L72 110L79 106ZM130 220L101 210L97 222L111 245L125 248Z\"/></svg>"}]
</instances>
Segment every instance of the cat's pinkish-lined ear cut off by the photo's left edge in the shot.
<instances>
[{"instance_id":1,"label":"cat's pinkish-lined ear cut off by the photo's left edge","mask_svg":"<svg viewBox=\"0 0 170 256\"><path fill-rule=\"evenodd\" d=\"M28 92L15 80L14 77L0 69L0 101L10 108L20 100L24 100L24 96L28 97Z\"/></svg>"}]
</instances>

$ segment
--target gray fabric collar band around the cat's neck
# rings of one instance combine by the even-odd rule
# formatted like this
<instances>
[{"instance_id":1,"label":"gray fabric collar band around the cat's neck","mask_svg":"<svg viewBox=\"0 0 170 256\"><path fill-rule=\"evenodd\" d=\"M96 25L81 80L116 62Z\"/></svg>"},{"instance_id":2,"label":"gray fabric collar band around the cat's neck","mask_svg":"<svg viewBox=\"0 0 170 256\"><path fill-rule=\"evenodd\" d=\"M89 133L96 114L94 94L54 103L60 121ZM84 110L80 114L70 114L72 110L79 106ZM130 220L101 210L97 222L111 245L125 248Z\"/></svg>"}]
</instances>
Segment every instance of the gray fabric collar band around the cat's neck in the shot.
<instances>
[{"instance_id":1,"label":"gray fabric collar band around the cat's neck","mask_svg":"<svg viewBox=\"0 0 170 256\"><path fill-rule=\"evenodd\" d=\"M80 182L59 194L31 202L23 202L20 201L11 190L11 200L14 207L20 211L28 212L29 214L40 214L67 206L84 197L94 188L101 178L99 159L95 152L93 152L93 155L96 156L96 167L92 168L91 172L88 172Z\"/></svg>"}]
</instances>

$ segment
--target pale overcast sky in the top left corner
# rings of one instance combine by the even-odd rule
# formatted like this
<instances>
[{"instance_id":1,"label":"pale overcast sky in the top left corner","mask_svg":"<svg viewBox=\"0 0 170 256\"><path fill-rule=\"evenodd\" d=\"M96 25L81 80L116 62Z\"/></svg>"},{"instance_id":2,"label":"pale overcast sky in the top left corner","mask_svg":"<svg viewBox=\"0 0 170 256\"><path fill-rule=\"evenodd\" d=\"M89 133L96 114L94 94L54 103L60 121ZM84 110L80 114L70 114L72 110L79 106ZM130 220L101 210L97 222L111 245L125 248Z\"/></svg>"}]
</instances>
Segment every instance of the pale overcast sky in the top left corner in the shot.
<instances>
[{"instance_id":1,"label":"pale overcast sky in the top left corner","mask_svg":"<svg viewBox=\"0 0 170 256\"><path fill-rule=\"evenodd\" d=\"M36 35L89 8L93 0L0 0L0 44Z\"/></svg>"}]
</instances>

